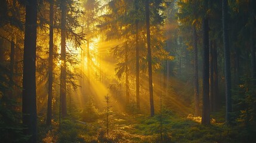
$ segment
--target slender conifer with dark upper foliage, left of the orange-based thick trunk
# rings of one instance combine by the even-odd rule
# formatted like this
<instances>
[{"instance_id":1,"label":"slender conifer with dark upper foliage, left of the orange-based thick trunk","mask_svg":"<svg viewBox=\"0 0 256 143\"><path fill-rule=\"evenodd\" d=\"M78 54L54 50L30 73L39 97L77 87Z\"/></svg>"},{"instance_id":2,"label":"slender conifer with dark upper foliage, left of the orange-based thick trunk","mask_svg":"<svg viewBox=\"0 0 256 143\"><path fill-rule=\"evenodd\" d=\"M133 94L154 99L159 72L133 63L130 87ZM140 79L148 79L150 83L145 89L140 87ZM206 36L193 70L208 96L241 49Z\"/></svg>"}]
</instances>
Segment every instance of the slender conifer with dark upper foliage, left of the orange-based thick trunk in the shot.
<instances>
[{"instance_id":1,"label":"slender conifer with dark upper foliage, left of the orange-based thick trunk","mask_svg":"<svg viewBox=\"0 0 256 143\"><path fill-rule=\"evenodd\" d=\"M198 32L199 21L201 21L201 9L199 9L199 2L194 1L182 1L178 2L180 7L178 17L182 24L180 24L180 30L183 36L182 41L187 42L189 46L187 49L193 49L193 82L194 82L194 103L195 103L195 115L199 116L199 76L198 76ZM199 10L198 10L199 9ZM191 31L191 30L192 31ZM192 37L192 38L191 38ZM200 37L199 37L200 39ZM180 50L181 51L181 50ZM179 52L179 51L177 51ZM187 52L187 50L186 50ZM187 57L187 56L186 56ZM187 63L187 62L186 62Z\"/></svg>"}]
</instances>

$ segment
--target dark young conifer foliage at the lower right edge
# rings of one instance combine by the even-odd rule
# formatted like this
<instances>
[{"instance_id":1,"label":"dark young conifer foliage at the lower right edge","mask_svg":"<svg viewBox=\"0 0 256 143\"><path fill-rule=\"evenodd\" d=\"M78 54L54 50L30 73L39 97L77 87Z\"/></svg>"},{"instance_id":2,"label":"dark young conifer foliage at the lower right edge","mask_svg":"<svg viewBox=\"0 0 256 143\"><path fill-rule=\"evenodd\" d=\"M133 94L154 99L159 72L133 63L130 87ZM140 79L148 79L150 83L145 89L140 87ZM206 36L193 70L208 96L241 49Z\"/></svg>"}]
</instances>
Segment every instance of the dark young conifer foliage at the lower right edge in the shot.
<instances>
[{"instance_id":1,"label":"dark young conifer foliage at the lower right edge","mask_svg":"<svg viewBox=\"0 0 256 143\"><path fill-rule=\"evenodd\" d=\"M238 85L235 91L234 102L235 110L233 118L240 128L243 128L241 135L247 138L248 142L255 142L254 134L256 132L256 98L255 86L253 80L248 77L242 77L242 83Z\"/></svg>"}]
</instances>

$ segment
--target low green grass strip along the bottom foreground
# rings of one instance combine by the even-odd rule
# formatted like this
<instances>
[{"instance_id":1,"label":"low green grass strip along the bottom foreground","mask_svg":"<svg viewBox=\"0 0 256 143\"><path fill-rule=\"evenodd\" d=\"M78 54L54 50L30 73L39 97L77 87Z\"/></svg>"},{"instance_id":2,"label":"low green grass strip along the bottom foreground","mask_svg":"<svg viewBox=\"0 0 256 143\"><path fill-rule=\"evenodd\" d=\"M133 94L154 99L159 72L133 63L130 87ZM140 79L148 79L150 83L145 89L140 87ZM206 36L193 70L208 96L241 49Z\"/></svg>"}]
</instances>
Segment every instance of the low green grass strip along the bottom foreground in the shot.
<instances>
[{"instance_id":1,"label":"low green grass strip along the bottom foreground","mask_svg":"<svg viewBox=\"0 0 256 143\"><path fill-rule=\"evenodd\" d=\"M54 122L51 128L40 126L39 129L48 130L41 132L42 142L160 142L159 119L159 116L116 114L111 119L109 139L102 119L85 125L74 122L75 119L64 119L60 136L58 123ZM220 123L203 126L191 117L180 117L175 113L164 113L162 119L163 142L243 142L248 133L239 126L228 127Z\"/></svg>"}]
</instances>

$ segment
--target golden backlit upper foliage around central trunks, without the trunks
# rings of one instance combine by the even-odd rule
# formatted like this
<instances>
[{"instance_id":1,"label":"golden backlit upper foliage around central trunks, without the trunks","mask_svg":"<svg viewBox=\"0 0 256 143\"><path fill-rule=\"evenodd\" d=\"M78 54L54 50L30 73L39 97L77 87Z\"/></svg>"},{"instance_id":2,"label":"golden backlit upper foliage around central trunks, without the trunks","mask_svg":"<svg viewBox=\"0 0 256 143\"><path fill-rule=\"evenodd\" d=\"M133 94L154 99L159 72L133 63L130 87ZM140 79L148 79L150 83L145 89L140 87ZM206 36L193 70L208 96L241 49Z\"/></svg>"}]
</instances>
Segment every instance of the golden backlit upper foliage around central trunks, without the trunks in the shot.
<instances>
[{"instance_id":1,"label":"golden backlit upper foliage around central trunks, without the trunks","mask_svg":"<svg viewBox=\"0 0 256 143\"><path fill-rule=\"evenodd\" d=\"M140 5L144 5L143 1L138 1ZM150 12L152 14L152 53L153 53L153 70L160 69L160 60L173 59L169 56L168 52L164 49L164 31L162 24L164 23L164 14L160 11L164 11L165 7L161 7L163 1L152 1L152 8ZM101 29L106 30L106 40L118 40L118 45L113 45L111 52L113 57L118 60L116 64L116 75L122 77L125 74L125 67L128 66L128 73L135 73L135 20L138 20L138 42L140 46L140 69L146 70L147 53L146 53L146 30L145 26L145 11L143 7L139 7L135 10L134 2L128 1L110 1L108 4L108 14L102 15L104 24L101 25ZM125 60L125 57L128 57ZM143 68L144 67L144 68Z\"/></svg>"}]
</instances>

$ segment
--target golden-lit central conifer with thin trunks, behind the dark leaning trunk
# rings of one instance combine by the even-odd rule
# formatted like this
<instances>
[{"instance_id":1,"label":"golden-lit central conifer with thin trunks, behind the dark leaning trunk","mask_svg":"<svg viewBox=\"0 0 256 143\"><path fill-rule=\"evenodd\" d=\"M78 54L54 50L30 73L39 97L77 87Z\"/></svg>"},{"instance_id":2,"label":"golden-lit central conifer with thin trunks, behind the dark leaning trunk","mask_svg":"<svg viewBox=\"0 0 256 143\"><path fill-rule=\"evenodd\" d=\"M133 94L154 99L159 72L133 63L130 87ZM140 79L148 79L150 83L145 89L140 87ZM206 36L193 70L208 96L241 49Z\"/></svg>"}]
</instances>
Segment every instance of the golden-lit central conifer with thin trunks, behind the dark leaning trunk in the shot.
<instances>
[{"instance_id":1,"label":"golden-lit central conifer with thin trunks, behind the dark leaning trunk","mask_svg":"<svg viewBox=\"0 0 256 143\"><path fill-rule=\"evenodd\" d=\"M163 49L164 36L161 26L163 26L164 23L164 14L161 14L160 11L164 9L161 6L164 2L152 1L152 3L153 8L150 8L150 13L152 14L152 17L150 17L150 21L152 21L153 24L150 27L150 30L153 30L151 36L154 40L151 42L151 45L153 47L152 57L155 61L154 63L152 63L152 70L156 70L160 69L161 67L159 61L161 61L163 58L166 59L169 53L166 52L165 49ZM139 81L141 77L147 73L148 65L148 58L146 58L147 51L140 50L146 48L147 40L146 36L144 36L146 35L146 30L144 30L144 27L146 27L146 23L144 22L145 8L141 6L143 4L144 1L133 1L132 3L129 1L109 1L106 5L107 13L102 16L104 18L104 23L101 24L101 29L103 29L106 33L106 40L117 43L116 45L113 45L111 51L113 53L113 57L118 60L115 68L116 75L119 77L119 79L124 81L123 87L126 88L124 89L125 92L129 91L130 86L131 88L136 88L134 94L140 94ZM137 69L135 64L136 62ZM125 78L126 75L128 77L128 80L127 78ZM134 77L135 79L136 76L137 79L136 81L134 81L135 84L133 84L132 77ZM129 92L132 95L133 91ZM133 99L132 96L129 96L129 101L136 101L136 104L139 105L140 95L138 94L136 95L135 99ZM128 98L124 101L128 101Z\"/></svg>"}]
</instances>

